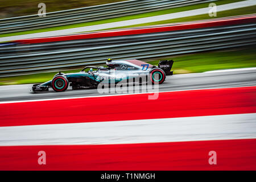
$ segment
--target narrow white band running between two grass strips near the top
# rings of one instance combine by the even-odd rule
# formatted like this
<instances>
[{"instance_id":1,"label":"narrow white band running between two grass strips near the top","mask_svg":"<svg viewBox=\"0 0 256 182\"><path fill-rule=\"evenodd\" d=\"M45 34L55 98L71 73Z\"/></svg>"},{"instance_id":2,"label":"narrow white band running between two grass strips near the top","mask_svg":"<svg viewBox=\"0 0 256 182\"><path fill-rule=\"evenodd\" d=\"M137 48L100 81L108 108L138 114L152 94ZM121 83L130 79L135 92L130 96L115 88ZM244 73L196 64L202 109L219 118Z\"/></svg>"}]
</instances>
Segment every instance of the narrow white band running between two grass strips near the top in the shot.
<instances>
[{"instance_id":1,"label":"narrow white band running between two grass strips near the top","mask_svg":"<svg viewBox=\"0 0 256 182\"><path fill-rule=\"evenodd\" d=\"M217 12L231 10L231 9L237 9L237 8L241 8L241 7L253 6L253 5L256 5L256 0L248 0L248 1L229 3L229 4L225 4L225 5L218 5ZM0 42L18 40L18 39L40 38L40 37L46 37L46 36L60 36L60 35L73 34L76 32L96 31L96 30L102 30L102 29L107 29L107 28L131 26L134 24L158 22L158 21L168 20L168 19L176 19L176 18L183 18L183 17L187 17L187 16L208 14L209 10L210 9L207 5L207 7L204 7L201 9L181 11L178 13L171 13L171 14L164 14L164 15L157 15L157 16L150 16L150 17L146 17L146 18L138 18L138 19L131 19L131 20L125 20L125 21L120 21L120 22L96 24L93 26L68 28L68 29L64 29L64 30L40 32L40 33L35 33L35 34L7 36L7 37L0 38Z\"/></svg>"}]
</instances>

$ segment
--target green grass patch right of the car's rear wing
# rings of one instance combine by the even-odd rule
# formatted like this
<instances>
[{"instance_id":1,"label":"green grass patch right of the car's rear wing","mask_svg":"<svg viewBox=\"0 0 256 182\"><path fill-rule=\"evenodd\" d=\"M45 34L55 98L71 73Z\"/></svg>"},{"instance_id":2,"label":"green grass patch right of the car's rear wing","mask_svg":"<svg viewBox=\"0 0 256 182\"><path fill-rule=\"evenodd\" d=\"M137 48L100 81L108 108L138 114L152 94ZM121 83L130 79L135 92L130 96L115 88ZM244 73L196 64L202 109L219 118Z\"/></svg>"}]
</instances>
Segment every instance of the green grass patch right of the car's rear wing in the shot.
<instances>
[{"instance_id":1,"label":"green grass patch right of the car's rear wing","mask_svg":"<svg viewBox=\"0 0 256 182\"><path fill-rule=\"evenodd\" d=\"M177 57L166 57L168 60L175 61L172 69L174 74L180 73L201 73L217 69L248 68L256 67L255 48L233 50L233 51L215 51L196 53L192 55L183 55ZM159 60L149 61L148 63L157 65Z\"/></svg>"}]
</instances>

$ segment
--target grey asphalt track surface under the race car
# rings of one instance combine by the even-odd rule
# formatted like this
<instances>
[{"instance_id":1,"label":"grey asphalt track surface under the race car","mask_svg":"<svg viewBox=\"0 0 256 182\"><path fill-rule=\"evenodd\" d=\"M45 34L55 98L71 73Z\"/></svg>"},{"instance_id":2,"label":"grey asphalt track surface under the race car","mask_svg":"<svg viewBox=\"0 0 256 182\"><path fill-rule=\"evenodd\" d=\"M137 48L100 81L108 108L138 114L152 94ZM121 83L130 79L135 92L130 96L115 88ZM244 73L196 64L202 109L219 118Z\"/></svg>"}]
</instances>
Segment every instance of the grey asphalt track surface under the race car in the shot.
<instances>
[{"instance_id":1,"label":"grey asphalt track surface under the race car","mask_svg":"<svg viewBox=\"0 0 256 182\"><path fill-rule=\"evenodd\" d=\"M166 81L159 85L159 92L212 88L233 88L255 85L256 68L242 68L167 76ZM97 89L72 90L70 87L65 92L54 92L52 89L49 89L49 92L33 93L30 91L31 86L32 84L0 86L0 102L92 97L113 94L101 94L98 93ZM141 92L139 90L137 91ZM135 93L135 91L133 93Z\"/></svg>"}]
</instances>

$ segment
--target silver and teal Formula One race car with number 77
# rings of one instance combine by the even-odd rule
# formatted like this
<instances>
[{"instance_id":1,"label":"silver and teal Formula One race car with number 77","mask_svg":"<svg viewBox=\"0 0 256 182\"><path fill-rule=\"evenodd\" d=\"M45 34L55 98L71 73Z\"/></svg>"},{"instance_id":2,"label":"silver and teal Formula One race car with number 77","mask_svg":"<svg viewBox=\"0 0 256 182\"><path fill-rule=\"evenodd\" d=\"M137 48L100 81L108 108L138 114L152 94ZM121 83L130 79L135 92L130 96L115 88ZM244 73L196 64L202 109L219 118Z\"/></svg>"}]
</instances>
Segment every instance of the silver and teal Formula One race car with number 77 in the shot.
<instances>
[{"instance_id":1,"label":"silver and teal Formula One race car with number 77","mask_svg":"<svg viewBox=\"0 0 256 182\"><path fill-rule=\"evenodd\" d=\"M158 67L139 60L117 60L108 59L108 67L87 66L79 73L57 73L52 80L43 84L34 84L32 91L48 91L51 87L55 92L63 92L68 86L72 89L97 88L100 82L114 81L120 82L124 79L131 80L134 78L147 76L146 82L152 84L162 84L166 80L166 75L172 75L172 60L160 61ZM86 71L89 69L89 71Z\"/></svg>"}]
</instances>

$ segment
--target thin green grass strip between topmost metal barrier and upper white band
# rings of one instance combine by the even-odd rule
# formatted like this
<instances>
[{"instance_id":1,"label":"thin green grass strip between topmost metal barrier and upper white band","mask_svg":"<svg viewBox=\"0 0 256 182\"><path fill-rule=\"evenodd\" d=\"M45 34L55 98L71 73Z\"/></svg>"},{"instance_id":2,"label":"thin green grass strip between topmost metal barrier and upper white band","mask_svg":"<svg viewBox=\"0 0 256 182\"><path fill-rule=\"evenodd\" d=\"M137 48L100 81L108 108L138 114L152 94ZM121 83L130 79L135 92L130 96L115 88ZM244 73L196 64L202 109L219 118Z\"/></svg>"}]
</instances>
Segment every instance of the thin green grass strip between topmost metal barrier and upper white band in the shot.
<instances>
[{"instance_id":1,"label":"thin green grass strip between topmost metal barrier and upper white band","mask_svg":"<svg viewBox=\"0 0 256 182\"><path fill-rule=\"evenodd\" d=\"M224 5L224 4L227 4L227 3L238 2L238 1L241 1L241 0L221 0L221 1L214 1L214 3L216 3L216 5ZM242 0L242 1L244 1L244 0ZM203 8L203 7L208 7L208 5L209 5L209 3L200 3L198 5L175 7L175 8L166 9L166 10L152 11L150 13L142 13L142 14L136 14L136 15L122 16L122 17L118 17L118 18L97 20L97 21L93 21L93 22L69 24L69 25L65 25L65 26L41 28L41 29L30 30L30 31L21 31L21 32L8 33L8 34L1 34L0 37L24 35L24 34L34 34L34 33L38 33L38 32L47 32L47 31L63 30L63 29L68 29L68 28L92 26L92 25L96 25L96 24L119 22L119 21L123 21L123 20L130 20L130 19L144 18L144 17L148 17L148 16L156 16L156 15L177 13L177 12L193 10L193 9L200 9L200 8Z\"/></svg>"}]
</instances>

